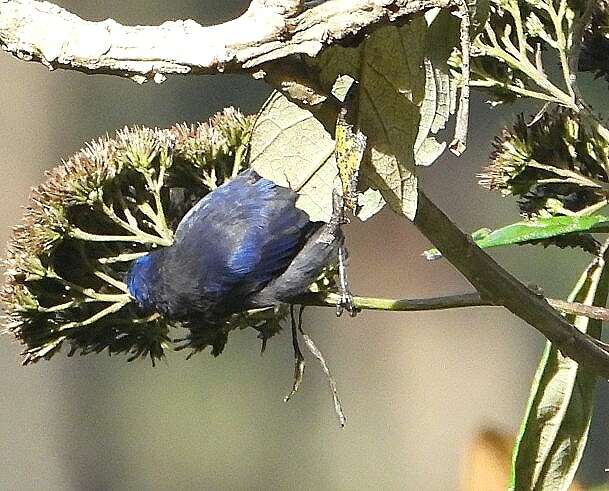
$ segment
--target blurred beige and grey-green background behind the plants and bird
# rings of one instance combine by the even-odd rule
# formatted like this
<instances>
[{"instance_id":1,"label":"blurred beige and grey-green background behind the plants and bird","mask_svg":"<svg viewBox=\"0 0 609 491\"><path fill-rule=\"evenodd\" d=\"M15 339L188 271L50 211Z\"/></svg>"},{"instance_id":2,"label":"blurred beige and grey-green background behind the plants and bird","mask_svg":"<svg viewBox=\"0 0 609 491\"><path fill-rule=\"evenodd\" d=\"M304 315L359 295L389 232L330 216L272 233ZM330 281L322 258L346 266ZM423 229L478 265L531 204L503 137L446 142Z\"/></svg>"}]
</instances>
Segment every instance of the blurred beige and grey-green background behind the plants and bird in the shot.
<instances>
[{"instance_id":1,"label":"blurred beige and grey-green background behind the plants and bird","mask_svg":"<svg viewBox=\"0 0 609 491\"><path fill-rule=\"evenodd\" d=\"M113 17L128 24L176 18L213 24L239 15L248 4L56 3L90 20ZM125 125L203 121L228 105L255 112L270 92L261 82L226 75L137 86L116 77L49 72L6 54L0 56L0 86L2 243L44 171L88 140ZM517 217L515 203L479 188L476 173L494 135L519 111L527 107L491 110L476 99L464 157L445 156L422 172L426 192L464 230ZM414 298L470 291L448 263L425 262L421 251L429 243L390 212L353 223L347 233L356 293ZM586 264L582 254L554 249L494 255L523 281L557 298L567 295ZM0 488L505 488L496 482L492 487L475 469L497 467L501 473L507 466L505 458L495 459L495 450L509 450L501 437L512 438L518 429L541 335L496 308L363 312L356 319L311 308L305 326L333 370L345 429L338 428L314 359L300 392L283 402L293 373L288 332L273 338L264 356L255 333L243 331L231 335L219 358L202 353L187 361L183 353L169 353L156 368L104 354L58 355L23 368L20 347L3 336ZM605 480L609 460L606 384L598 397L579 473L586 484Z\"/></svg>"}]
</instances>

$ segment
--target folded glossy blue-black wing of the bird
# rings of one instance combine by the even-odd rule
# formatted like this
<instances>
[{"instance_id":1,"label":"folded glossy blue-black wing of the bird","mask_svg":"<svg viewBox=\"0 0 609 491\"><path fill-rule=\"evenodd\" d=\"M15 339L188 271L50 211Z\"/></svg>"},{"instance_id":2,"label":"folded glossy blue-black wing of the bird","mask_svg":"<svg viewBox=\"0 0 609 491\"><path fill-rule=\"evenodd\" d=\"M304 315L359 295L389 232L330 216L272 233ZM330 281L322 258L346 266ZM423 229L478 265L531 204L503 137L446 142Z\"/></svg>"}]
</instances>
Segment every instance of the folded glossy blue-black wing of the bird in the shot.
<instances>
[{"instance_id":1,"label":"folded glossy blue-black wing of the bird","mask_svg":"<svg viewBox=\"0 0 609 491\"><path fill-rule=\"evenodd\" d=\"M178 226L176 246L181 254L198 255L192 270L198 288L242 297L284 271L312 227L296 198L249 170L195 205Z\"/></svg>"}]
</instances>

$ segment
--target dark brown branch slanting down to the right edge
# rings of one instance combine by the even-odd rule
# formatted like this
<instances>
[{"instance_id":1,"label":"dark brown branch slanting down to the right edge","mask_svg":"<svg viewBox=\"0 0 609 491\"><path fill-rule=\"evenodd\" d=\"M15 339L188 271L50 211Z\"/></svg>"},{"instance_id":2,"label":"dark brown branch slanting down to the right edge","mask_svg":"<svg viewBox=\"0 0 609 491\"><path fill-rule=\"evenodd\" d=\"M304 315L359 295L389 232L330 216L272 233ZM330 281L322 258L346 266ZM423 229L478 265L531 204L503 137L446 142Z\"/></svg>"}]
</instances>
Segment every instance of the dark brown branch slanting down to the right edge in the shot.
<instances>
[{"instance_id":1,"label":"dark brown branch slanting down to the right edge","mask_svg":"<svg viewBox=\"0 0 609 491\"><path fill-rule=\"evenodd\" d=\"M504 306L546 336L564 355L609 379L607 345L567 322L542 295L527 288L461 232L420 190L414 222L483 299Z\"/></svg>"}]
</instances>

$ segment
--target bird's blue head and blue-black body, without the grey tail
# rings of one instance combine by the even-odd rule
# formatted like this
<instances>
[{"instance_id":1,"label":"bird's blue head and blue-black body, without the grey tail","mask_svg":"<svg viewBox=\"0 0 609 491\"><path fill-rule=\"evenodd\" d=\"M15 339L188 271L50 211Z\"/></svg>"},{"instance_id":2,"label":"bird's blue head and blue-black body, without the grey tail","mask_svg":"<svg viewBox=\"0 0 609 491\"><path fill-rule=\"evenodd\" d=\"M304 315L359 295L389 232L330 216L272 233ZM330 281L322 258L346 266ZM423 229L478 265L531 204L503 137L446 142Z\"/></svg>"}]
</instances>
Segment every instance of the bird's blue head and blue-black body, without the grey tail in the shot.
<instances>
[{"instance_id":1,"label":"bird's blue head and blue-black body, without the grey tail","mask_svg":"<svg viewBox=\"0 0 609 491\"><path fill-rule=\"evenodd\" d=\"M253 170L242 172L184 216L171 247L134 262L131 294L174 318L241 310L288 267L315 228L296 198Z\"/></svg>"}]
</instances>

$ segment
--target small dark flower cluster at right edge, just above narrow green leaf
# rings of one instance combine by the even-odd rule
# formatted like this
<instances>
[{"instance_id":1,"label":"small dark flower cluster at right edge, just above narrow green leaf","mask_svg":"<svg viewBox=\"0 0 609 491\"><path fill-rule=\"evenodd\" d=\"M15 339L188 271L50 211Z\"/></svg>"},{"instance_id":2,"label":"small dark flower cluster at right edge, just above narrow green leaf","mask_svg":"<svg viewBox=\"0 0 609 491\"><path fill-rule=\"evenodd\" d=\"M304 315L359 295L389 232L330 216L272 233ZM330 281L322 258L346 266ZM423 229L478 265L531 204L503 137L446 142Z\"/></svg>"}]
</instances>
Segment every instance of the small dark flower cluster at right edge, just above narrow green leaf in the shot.
<instances>
[{"instance_id":1,"label":"small dark flower cluster at right edge, just above narrow green leaf","mask_svg":"<svg viewBox=\"0 0 609 491\"><path fill-rule=\"evenodd\" d=\"M521 213L534 218L598 209L607 203L608 175L608 142L595 125L555 109L504 129L480 183L519 197Z\"/></svg>"}]
</instances>

